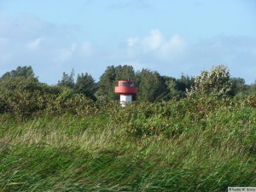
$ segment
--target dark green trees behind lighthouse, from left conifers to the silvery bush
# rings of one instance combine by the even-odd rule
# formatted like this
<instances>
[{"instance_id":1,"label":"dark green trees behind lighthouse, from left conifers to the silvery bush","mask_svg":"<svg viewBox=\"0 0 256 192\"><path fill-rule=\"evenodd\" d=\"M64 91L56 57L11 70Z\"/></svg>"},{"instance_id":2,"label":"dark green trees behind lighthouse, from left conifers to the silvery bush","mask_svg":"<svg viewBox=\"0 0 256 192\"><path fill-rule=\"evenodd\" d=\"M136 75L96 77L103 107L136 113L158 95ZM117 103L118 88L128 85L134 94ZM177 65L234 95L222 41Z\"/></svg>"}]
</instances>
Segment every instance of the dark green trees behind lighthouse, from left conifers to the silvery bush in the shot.
<instances>
[{"instance_id":1,"label":"dark green trees behind lighthouse, from left conifers to the silvery bush","mask_svg":"<svg viewBox=\"0 0 256 192\"><path fill-rule=\"evenodd\" d=\"M75 81L75 73L63 73L62 79L57 85L73 89L76 93L90 97L94 101L119 100L119 95L113 92L119 80L134 80L139 91L136 98L138 102L168 101L173 97L182 98L186 89L194 84L194 78L182 75L180 79L161 76L158 72L149 69L135 72L131 66L109 66L95 82L89 73L78 74Z\"/></svg>"}]
</instances>

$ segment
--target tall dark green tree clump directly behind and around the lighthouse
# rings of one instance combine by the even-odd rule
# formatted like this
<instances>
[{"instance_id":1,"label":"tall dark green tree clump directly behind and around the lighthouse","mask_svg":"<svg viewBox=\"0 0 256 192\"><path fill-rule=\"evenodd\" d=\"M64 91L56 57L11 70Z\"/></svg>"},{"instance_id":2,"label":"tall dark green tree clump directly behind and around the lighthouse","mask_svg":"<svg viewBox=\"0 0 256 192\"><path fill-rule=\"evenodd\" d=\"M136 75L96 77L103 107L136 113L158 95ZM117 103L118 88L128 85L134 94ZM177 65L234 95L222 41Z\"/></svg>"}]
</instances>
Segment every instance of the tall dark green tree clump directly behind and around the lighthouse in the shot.
<instances>
[{"instance_id":1,"label":"tall dark green tree clump directly behind and around the lighthouse","mask_svg":"<svg viewBox=\"0 0 256 192\"><path fill-rule=\"evenodd\" d=\"M110 66L102 74L98 83L96 97L99 101L118 100L119 96L113 93L118 80L134 80L138 87L137 96L133 100L144 102L168 101L172 98L183 98L185 89L189 88L194 79L182 75L181 79L161 76L160 73L143 69L134 73L131 66Z\"/></svg>"}]
</instances>

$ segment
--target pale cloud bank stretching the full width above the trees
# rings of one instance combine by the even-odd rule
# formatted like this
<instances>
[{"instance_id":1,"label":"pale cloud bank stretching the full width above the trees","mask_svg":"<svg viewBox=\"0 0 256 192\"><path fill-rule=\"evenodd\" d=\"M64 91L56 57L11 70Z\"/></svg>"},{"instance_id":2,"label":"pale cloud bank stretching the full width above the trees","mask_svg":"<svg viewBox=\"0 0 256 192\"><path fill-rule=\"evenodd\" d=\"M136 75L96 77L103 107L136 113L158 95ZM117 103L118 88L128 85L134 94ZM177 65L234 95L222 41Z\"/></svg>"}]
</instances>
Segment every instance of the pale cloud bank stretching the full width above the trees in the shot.
<instances>
[{"instance_id":1,"label":"pale cloud bank stretching the full width above the trees","mask_svg":"<svg viewBox=\"0 0 256 192\"><path fill-rule=\"evenodd\" d=\"M224 64L233 77L256 79L256 39L218 35L191 42L182 34L155 28L142 37L125 37L115 46L90 41L79 26L57 26L34 15L10 18L0 12L0 75L32 65L42 82L55 84L62 72L91 73L97 80L109 65L130 64L163 75L197 75Z\"/></svg>"}]
</instances>

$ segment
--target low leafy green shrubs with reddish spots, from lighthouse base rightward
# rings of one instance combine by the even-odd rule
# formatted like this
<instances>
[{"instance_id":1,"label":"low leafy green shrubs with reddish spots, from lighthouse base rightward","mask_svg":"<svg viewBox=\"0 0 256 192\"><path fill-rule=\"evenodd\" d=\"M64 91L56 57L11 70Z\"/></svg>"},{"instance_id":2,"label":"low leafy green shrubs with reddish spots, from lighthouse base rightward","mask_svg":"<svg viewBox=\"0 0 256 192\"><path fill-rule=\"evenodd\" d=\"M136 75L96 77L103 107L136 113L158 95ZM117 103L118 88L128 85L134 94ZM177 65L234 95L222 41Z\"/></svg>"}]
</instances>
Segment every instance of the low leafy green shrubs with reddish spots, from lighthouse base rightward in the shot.
<instances>
[{"instance_id":1,"label":"low leafy green shrubs with reddish spots, from lighthouse base rightward","mask_svg":"<svg viewBox=\"0 0 256 192\"><path fill-rule=\"evenodd\" d=\"M253 111L255 97L248 97L246 101L249 108L252 108L249 111ZM141 139L151 136L170 138L195 131L191 130L192 126L198 131L205 130L208 120L212 116L215 118L218 110L236 108L236 105L241 104L240 102L231 99L218 100L207 96L183 99L179 102L176 100L154 104L145 102L128 106L124 111L120 110L119 115L114 116L117 122L123 123L126 134L131 138Z\"/></svg>"}]
</instances>

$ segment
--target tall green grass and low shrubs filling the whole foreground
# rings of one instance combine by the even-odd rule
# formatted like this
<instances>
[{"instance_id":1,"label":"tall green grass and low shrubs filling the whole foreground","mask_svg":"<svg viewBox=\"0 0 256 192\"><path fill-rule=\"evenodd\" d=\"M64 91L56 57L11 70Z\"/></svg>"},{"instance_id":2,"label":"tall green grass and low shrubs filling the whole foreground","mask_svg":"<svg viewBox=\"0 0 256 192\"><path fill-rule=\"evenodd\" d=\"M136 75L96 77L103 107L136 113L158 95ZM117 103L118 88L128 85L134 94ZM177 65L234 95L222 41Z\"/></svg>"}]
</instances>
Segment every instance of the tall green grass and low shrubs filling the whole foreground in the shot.
<instances>
[{"instance_id":1,"label":"tall green grass and low shrubs filling the whole foreground","mask_svg":"<svg viewBox=\"0 0 256 192\"><path fill-rule=\"evenodd\" d=\"M246 99L133 103L26 122L3 114L0 123L0 191L256 185L256 110Z\"/></svg>"}]
</instances>

